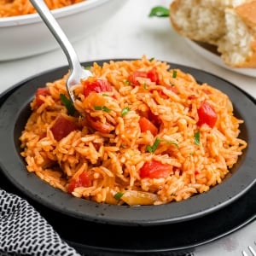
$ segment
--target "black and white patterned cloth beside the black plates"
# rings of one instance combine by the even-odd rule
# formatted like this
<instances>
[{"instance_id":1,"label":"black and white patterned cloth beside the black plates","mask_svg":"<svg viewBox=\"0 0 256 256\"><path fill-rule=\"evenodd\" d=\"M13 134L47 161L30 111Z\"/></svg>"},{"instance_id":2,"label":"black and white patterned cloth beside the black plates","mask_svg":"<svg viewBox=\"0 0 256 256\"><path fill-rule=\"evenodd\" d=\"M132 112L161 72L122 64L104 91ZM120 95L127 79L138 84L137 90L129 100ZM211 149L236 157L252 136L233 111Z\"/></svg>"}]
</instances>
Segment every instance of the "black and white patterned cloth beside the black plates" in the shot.
<instances>
[{"instance_id":1,"label":"black and white patterned cloth beside the black plates","mask_svg":"<svg viewBox=\"0 0 256 256\"><path fill-rule=\"evenodd\" d=\"M27 201L0 189L0 255L80 254Z\"/></svg>"}]
</instances>

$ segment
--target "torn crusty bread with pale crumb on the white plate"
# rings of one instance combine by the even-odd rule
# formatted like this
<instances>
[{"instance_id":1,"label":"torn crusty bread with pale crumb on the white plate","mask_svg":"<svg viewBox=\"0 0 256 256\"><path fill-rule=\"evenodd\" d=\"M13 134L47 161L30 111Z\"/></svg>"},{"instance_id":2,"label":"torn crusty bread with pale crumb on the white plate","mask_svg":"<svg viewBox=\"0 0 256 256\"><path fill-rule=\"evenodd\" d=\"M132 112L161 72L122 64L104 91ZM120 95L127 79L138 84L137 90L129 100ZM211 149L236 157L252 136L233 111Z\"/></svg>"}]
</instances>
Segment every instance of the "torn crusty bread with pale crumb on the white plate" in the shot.
<instances>
[{"instance_id":1,"label":"torn crusty bread with pale crumb on the white plate","mask_svg":"<svg viewBox=\"0 0 256 256\"><path fill-rule=\"evenodd\" d=\"M183 37L216 45L227 66L256 67L256 0L174 0L170 19Z\"/></svg>"}]
</instances>

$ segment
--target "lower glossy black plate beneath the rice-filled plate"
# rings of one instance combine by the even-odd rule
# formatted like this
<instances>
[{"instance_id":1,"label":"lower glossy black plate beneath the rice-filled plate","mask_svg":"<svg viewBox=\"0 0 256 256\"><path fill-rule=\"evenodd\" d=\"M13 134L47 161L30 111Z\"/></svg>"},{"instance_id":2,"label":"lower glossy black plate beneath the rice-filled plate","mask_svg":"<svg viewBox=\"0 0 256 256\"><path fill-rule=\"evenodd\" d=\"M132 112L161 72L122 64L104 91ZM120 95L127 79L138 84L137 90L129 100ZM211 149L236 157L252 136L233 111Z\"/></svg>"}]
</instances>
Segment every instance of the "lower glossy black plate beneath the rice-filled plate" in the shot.
<instances>
[{"instance_id":1,"label":"lower glossy black plate beneath the rice-filled plate","mask_svg":"<svg viewBox=\"0 0 256 256\"><path fill-rule=\"evenodd\" d=\"M24 195L1 169L0 187L29 201L84 256L189 256L195 247L230 235L256 217L256 184L237 201L201 218L147 227L94 224L55 212Z\"/></svg>"}]
</instances>

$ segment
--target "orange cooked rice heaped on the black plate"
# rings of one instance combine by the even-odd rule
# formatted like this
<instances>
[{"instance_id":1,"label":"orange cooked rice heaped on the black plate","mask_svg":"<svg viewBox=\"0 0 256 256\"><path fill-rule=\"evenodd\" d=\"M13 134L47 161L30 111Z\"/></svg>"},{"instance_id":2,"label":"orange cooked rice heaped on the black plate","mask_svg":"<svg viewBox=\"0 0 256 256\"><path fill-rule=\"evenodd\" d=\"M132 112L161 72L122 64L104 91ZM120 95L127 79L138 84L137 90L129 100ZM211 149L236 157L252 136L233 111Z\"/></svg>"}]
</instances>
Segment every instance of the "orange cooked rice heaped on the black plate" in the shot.
<instances>
[{"instance_id":1,"label":"orange cooked rice heaped on the black plate","mask_svg":"<svg viewBox=\"0 0 256 256\"><path fill-rule=\"evenodd\" d=\"M131 73L152 69L158 74L157 83L143 77L137 79L138 85L127 83ZM106 62L102 67L94 63L90 71L96 79L107 79L113 90L84 96L83 84L77 84L75 107L109 132L92 129L82 116L67 115L60 100L60 94L67 96L65 75L46 84L49 95L40 97L40 107L36 97L32 101L32 115L20 136L28 172L35 172L55 188L109 204L125 203L114 196L128 190L142 191L148 198L157 195L151 202L154 205L182 201L221 183L247 147L238 137L243 121L234 116L229 97L209 84L197 84L181 70L175 70L174 78L166 62L143 56L135 61ZM218 115L212 128L197 125L201 102L208 102ZM111 111L96 110L95 106ZM122 115L124 108L128 110ZM158 120L156 135L142 131L139 124L141 116L150 119L149 113ZM60 115L79 128L57 141L51 127ZM200 142L195 143L197 132ZM156 139L159 144L148 152ZM167 176L141 177L143 165L153 160L169 166ZM77 182L70 191L70 183L78 181L82 173L91 183ZM139 194L133 196L143 205Z\"/></svg>"}]
</instances>

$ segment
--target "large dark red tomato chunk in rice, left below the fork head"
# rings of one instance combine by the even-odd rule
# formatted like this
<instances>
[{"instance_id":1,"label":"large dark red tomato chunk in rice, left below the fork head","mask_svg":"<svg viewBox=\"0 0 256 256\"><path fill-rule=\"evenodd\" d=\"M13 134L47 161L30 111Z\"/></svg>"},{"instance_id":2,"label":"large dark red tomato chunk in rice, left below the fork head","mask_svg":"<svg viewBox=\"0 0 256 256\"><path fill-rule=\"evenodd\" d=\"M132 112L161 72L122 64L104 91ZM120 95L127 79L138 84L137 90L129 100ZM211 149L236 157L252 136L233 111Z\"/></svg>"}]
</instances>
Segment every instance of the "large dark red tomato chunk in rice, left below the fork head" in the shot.
<instances>
[{"instance_id":1,"label":"large dark red tomato chunk in rice, left below the fork head","mask_svg":"<svg viewBox=\"0 0 256 256\"><path fill-rule=\"evenodd\" d=\"M71 131L78 129L78 126L71 120L66 119L63 116L59 116L55 124L51 127L51 131L56 141L60 141L63 137L66 137Z\"/></svg>"}]
</instances>

